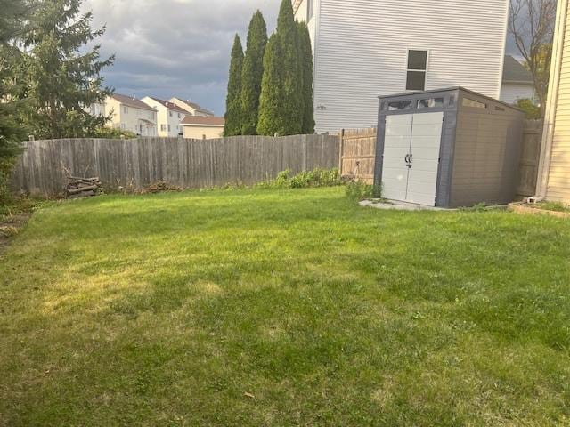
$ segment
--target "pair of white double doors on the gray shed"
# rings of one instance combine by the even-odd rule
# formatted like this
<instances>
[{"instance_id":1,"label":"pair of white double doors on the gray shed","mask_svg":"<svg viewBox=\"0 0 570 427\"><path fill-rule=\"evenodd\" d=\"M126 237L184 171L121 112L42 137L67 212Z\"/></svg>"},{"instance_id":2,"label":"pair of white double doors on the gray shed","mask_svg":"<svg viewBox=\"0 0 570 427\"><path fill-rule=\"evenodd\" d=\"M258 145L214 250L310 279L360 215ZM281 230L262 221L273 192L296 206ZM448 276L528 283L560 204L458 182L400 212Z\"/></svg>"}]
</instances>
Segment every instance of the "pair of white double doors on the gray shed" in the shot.
<instances>
[{"instance_id":1,"label":"pair of white double doors on the gray shed","mask_svg":"<svg viewBox=\"0 0 570 427\"><path fill-rule=\"evenodd\" d=\"M443 112L386 117L383 197L436 205L443 121Z\"/></svg>"}]
</instances>

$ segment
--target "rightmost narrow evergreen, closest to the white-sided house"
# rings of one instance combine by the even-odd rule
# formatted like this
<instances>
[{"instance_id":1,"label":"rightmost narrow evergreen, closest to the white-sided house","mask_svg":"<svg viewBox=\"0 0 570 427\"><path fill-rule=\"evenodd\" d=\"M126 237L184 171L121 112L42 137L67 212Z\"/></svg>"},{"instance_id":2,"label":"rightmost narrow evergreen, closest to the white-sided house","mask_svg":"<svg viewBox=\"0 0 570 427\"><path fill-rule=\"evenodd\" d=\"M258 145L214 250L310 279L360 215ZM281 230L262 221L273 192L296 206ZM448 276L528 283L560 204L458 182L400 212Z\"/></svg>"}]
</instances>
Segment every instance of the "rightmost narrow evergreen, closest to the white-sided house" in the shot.
<instances>
[{"instance_id":1,"label":"rightmost narrow evergreen, closest to the white-sided house","mask_svg":"<svg viewBox=\"0 0 570 427\"><path fill-rule=\"evenodd\" d=\"M299 32L299 58L303 82L303 122L302 133L314 133L314 102L313 102L313 49L311 36L305 22L297 22Z\"/></svg>"}]
</instances>

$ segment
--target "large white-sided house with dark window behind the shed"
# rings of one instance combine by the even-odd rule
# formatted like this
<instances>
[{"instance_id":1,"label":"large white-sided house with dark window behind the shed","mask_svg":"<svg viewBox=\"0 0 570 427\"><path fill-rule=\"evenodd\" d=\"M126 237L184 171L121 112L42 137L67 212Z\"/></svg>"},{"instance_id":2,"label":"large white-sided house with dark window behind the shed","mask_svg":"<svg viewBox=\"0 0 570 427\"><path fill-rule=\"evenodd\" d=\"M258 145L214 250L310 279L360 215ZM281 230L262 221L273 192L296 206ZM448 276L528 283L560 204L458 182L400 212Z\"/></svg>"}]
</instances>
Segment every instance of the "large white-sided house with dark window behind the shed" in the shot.
<instances>
[{"instance_id":1,"label":"large white-sided house with dark window behind the shed","mask_svg":"<svg viewBox=\"0 0 570 427\"><path fill-rule=\"evenodd\" d=\"M499 98L509 0L292 0L314 49L317 132L377 125L378 96Z\"/></svg>"}]
</instances>

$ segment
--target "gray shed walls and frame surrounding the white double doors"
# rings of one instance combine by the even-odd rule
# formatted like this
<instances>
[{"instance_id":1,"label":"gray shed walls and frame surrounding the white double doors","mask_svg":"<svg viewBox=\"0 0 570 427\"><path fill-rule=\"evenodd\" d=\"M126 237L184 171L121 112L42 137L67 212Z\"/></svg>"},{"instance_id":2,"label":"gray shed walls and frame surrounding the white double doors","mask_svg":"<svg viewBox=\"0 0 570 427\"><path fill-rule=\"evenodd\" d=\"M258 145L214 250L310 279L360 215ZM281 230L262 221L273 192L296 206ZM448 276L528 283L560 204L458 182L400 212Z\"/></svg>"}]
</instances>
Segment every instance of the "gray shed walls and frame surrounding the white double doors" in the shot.
<instances>
[{"instance_id":1,"label":"gray shed walls and frame surrounding the white double doors","mask_svg":"<svg viewBox=\"0 0 570 427\"><path fill-rule=\"evenodd\" d=\"M427 98L444 98L444 107L415 108L417 101ZM486 108L464 107L464 99L480 102ZM387 106L393 101L412 101L414 108L390 111ZM436 206L513 201L517 192L517 165L525 115L508 104L463 88L380 98L375 183L379 185L382 181L386 117L436 111L444 112Z\"/></svg>"}]
</instances>

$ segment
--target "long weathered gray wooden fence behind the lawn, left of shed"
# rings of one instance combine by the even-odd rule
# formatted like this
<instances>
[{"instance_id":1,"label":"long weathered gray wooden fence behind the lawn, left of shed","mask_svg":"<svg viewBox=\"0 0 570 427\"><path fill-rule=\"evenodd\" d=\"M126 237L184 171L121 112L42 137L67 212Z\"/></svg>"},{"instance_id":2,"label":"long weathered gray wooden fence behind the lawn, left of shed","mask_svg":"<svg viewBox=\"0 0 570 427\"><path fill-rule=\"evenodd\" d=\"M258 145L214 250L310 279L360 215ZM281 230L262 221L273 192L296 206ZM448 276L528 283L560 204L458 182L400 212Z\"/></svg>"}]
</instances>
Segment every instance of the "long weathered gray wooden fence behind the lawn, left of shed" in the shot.
<instances>
[{"instance_id":1,"label":"long weathered gray wooden fence behind the lawn, left of shed","mask_svg":"<svg viewBox=\"0 0 570 427\"><path fill-rule=\"evenodd\" d=\"M338 137L330 135L28 141L12 185L16 191L59 195L66 171L98 176L109 189L139 189L159 181L194 189L250 185L288 168L298 173L338 167L338 151Z\"/></svg>"}]
</instances>

